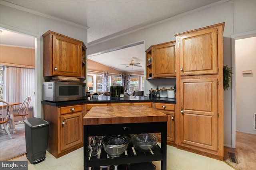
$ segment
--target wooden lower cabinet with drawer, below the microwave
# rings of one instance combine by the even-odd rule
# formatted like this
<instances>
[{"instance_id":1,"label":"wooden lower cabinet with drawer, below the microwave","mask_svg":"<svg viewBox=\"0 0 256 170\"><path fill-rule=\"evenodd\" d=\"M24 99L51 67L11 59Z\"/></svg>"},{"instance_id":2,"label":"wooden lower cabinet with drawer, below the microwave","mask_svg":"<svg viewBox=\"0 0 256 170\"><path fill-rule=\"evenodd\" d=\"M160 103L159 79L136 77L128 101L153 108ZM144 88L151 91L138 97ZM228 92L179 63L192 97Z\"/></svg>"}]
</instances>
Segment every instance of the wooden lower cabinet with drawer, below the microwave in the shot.
<instances>
[{"instance_id":1,"label":"wooden lower cabinet with drawer, below the microwave","mask_svg":"<svg viewBox=\"0 0 256 170\"><path fill-rule=\"evenodd\" d=\"M44 120L50 122L48 152L59 158L83 147L84 115L84 105L64 107L44 105Z\"/></svg>"}]
</instances>

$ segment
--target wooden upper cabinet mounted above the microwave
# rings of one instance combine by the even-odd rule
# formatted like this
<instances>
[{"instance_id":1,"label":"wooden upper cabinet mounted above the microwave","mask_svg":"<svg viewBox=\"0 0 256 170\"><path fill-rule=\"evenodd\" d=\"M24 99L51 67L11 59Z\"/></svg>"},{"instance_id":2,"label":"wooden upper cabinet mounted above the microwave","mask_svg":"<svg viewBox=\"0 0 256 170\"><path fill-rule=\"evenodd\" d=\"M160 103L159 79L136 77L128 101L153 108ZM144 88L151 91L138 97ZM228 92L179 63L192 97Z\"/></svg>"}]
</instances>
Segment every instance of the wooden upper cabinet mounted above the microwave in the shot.
<instances>
[{"instance_id":1,"label":"wooden upper cabinet mounted above the microwave","mask_svg":"<svg viewBox=\"0 0 256 170\"><path fill-rule=\"evenodd\" d=\"M52 31L47 31L42 36L46 79L51 79L51 76L85 78L85 70L82 71L82 56L85 55L86 47L82 41Z\"/></svg>"}]
</instances>

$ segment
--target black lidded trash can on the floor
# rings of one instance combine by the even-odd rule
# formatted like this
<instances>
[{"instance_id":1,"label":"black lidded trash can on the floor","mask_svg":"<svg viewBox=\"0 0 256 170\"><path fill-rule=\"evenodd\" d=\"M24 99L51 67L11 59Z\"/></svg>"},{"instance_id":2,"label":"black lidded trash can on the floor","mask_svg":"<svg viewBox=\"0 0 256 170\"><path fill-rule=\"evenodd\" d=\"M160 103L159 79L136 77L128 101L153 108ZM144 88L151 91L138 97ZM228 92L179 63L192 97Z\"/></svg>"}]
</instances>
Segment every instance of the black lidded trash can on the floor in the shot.
<instances>
[{"instance_id":1,"label":"black lidded trash can on the floor","mask_svg":"<svg viewBox=\"0 0 256 170\"><path fill-rule=\"evenodd\" d=\"M37 117L25 119L24 123L27 158L35 164L45 159L50 123Z\"/></svg>"}]
</instances>

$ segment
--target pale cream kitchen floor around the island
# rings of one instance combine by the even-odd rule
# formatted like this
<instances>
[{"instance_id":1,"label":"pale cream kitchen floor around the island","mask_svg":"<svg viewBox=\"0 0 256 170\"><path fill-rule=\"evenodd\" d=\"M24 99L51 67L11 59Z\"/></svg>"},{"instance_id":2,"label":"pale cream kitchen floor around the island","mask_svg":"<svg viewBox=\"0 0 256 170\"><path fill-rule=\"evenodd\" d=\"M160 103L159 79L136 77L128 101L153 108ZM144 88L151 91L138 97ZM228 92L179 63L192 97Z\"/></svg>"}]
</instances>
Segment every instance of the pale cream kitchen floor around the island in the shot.
<instances>
[{"instance_id":1,"label":"pale cream kitchen floor around the island","mask_svg":"<svg viewBox=\"0 0 256 170\"><path fill-rule=\"evenodd\" d=\"M24 155L13 160L27 160L27 158ZM30 164L28 161L28 170L83 170L83 164L83 148L80 148L58 159L46 152L44 161L38 164ZM153 164L156 165L157 170L160 170L160 161ZM167 145L167 170L234 170L234 168L223 161Z\"/></svg>"}]
</instances>

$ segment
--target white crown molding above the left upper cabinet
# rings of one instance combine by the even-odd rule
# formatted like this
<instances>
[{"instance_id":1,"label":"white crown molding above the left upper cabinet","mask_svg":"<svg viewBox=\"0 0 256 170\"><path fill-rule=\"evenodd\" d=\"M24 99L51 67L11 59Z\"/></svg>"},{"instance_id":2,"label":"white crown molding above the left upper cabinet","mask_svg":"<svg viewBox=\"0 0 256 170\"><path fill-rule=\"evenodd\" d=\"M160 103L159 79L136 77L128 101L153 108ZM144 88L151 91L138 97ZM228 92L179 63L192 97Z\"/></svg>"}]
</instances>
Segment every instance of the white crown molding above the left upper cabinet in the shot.
<instances>
[{"instance_id":1,"label":"white crown molding above the left upper cabinet","mask_svg":"<svg viewBox=\"0 0 256 170\"><path fill-rule=\"evenodd\" d=\"M12 4L10 2L6 2L4 0L0 0L0 4L1 5L4 5L4 6L8 6L10 8L15 8L17 10L21 10L21 11L24 11L24 12L28 12L28 13L31 13L31 14L35 14L35 15L38 15L38 16L42 16L44 18L48 18L48 19L51 19L51 20L55 20L55 21L60 21L62 23L66 23L68 25L73 25L75 27L79 27L79 28L83 28L83 29L89 29L88 26L85 26L85 25L80 25L80 24L77 24L77 23L74 23L74 22L70 22L70 21L67 21L67 20L62 20L60 18L57 18L57 17L54 17L54 16L50 16L48 14L44 14L42 12L38 12L38 11L35 11L35 10L30 10L28 8L25 8L25 7L22 7L22 6L19 6L19 5L16 5L16 4Z\"/></svg>"}]
</instances>

